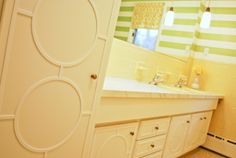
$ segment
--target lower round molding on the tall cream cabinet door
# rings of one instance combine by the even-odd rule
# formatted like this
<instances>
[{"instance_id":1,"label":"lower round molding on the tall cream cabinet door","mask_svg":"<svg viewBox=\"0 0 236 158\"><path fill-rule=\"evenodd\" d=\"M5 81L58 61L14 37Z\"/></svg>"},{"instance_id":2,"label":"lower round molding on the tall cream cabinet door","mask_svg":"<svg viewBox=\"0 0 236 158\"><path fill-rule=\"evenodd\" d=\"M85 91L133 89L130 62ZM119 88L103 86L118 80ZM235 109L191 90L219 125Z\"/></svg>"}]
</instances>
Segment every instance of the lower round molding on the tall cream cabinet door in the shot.
<instances>
[{"instance_id":1,"label":"lower round molding on the tall cream cabinet door","mask_svg":"<svg viewBox=\"0 0 236 158\"><path fill-rule=\"evenodd\" d=\"M68 87L68 89L66 90L66 92L69 92L70 91L70 95L71 96L73 96L73 98L72 99L75 99L75 98L77 98L76 99L76 102L72 102L72 104L73 105L71 105L71 106L68 106L67 104L64 104L64 102L63 103L60 103L60 105L61 106L63 106L64 108L72 108L72 109L66 109L66 110L63 110L63 111L61 111L59 114L60 114L60 116L62 116L63 117L63 114L64 114L64 117L63 118L65 118L66 116L70 116L70 111L72 111L73 110L73 116L71 116L70 118L68 118L67 119L67 121L69 120L69 119L71 119L71 120L69 120L70 122L67 122L70 126L68 127L68 126L66 126L65 128L62 126L61 127L61 131L62 131L62 135L63 135L63 137L61 137L62 139L60 139L59 141L57 141L57 142L53 142L53 143L51 143L49 146L35 146L35 145L32 145L31 143L29 143L29 141L27 141L26 139L25 139L25 137L24 137L24 133L22 133L22 129L21 129L21 124L22 124L22 121L21 121L21 117L22 116L24 116L24 115L22 115L22 109L23 109L23 112L25 112L26 111L26 108L28 108L28 107L31 107L31 104L28 104L28 100L30 100L30 97L34 97L35 96L35 94L37 95L37 97L38 98L40 98L40 95L38 95L38 93L36 93L37 91L39 91L39 89L41 88L42 89L42 87L44 86L45 87L45 85L47 85L47 84L52 84L52 83L59 83L59 84L62 84L64 87L63 88L65 88L65 87ZM51 87L53 87L54 85L51 85ZM57 85L56 85L57 86ZM50 86L49 86L50 87ZM47 89L46 89L47 90ZM56 90L58 90L58 89L56 89ZM55 93L56 93L56 90L55 90ZM63 90L62 88L61 88L61 90ZM72 91L71 91L72 90ZM53 91L53 90L52 90ZM42 94L42 92L43 92L43 90L41 90L41 91L39 91L40 93L39 94ZM71 93L72 92L72 93ZM64 92L63 92L64 93ZM61 94L63 94L63 93L60 93L60 96L61 96ZM57 93L58 94L58 93ZM42 94L43 95L43 97L45 97L46 95L45 94ZM54 98L55 97L57 97L57 96L55 96L56 94L54 94ZM60 97L59 96L59 97ZM46 96L47 97L47 96ZM50 96L48 96L48 98L49 98L49 100L47 100L47 98L45 99L46 100L46 102L47 101L49 101L49 104L51 103L51 100L50 100ZM53 149L55 149L55 148L58 148L59 146L61 146L61 145L63 145L66 141L68 141L69 139L70 139L70 137L74 134L74 132L77 130L77 128L79 127L79 124L80 124L80 120L81 120L81 113L82 113L82 111L83 111L83 109L82 109L82 104L83 104L83 100L82 100L82 96L81 96L81 93L80 93L80 90L78 89L78 87L76 87L76 84L72 81L72 80L70 80L70 79L68 79L68 78L65 78L65 77L62 77L62 78L60 78L60 79L58 79L58 77L57 76L52 76L52 77L47 77L47 78L45 78L45 79L42 79L42 80L40 80L39 82L37 82L36 84L34 84L33 86L31 86L26 92L25 92L25 94L23 95L23 97L22 97L22 99L21 99L21 101L20 101L20 103L19 103L19 105L18 105L18 107L17 107L17 109L16 109L16 114L15 114L15 119L14 119L14 130L15 130L15 134L16 134L16 137L17 137L17 139L18 139L18 141L20 142L20 144L21 145L23 145L26 149L28 149L29 151L32 151L32 152L48 152L48 151L51 151L51 150L53 150ZM71 98L69 98L69 99L71 99ZM66 101L68 101L68 100L66 100ZM29 103L31 103L30 101L29 101ZM40 102L41 103L41 102ZM45 105L49 105L49 104L45 104ZM27 105L26 107L24 107L25 105ZM34 105L33 105L34 106ZM44 106L43 108L43 110L45 110L45 107L46 106ZM53 107L55 107L55 105L53 105ZM63 108L63 107L60 107L61 109ZM24 109L25 108L25 109ZM37 108L40 108L40 107L37 107ZM30 110L32 110L33 108L31 107L30 108ZM75 111L75 109L77 110L77 111ZM30 114L30 116L31 116L31 118L27 118L27 119L35 119L34 118L34 116L33 116L33 113L37 113L37 111L33 111L33 113L31 114L30 113L30 110L28 109L28 111L27 111L27 114ZM42 111L43 111L42 110ZM47 109L46 109L47 110ZM40 112L42 112L42 111L40 111ZM55 110L56 111L56 110ZM64 112L64 111L66 111L66 112ZM42 114L42 113L40 113L40 114ZM49 114L49 113L48 113ZM58 117L54 117L55 115L59 115L59 114L57 114L57 113L53 113L53 111L52 111L52 118L50 118L50 119L54 119L53 121L54 122L56 122L56 123L58 123L58 120L56 120L56 119L58 119ZM39 116L39 114L37 114L37 116ZM33 118L32 118L33 117ZM36 117L36 118L38 118L38 120L39 120L39 117ZM61 118L60 118L61 119ZM25 118L23 119L24 121L26 120ZM37 120L37 121L38 121ZM53 122L52 121L52 122ZM40 121L38 121L38 122L40 122ZM43 123L45 123L45 122L40 122L40 124L41 125L43 125ZM62 125L64 125L66 122L64 122ZM23 122L23 124L24 124L24 122ZM31 124L32 125L32 124ZM37 125L34 125L33 124L33 126L34 127L37 127ZM26 128L26 126L23 126L24 128ZM58 127L58 125L57 125L57 127ZM59 126L60 127L60 126ZM27 127L27 128L29 128L29 127ZM26 134L32 134L33 136L35 136L35 135L39 135L39 134L41 134L41 133L37 133L37 134L35 134L35 133L32 133L32 130L31 129L24 129L24 131L27 131L26 132ZM46 127L45 127L46 128ZM53 130L55 130L55 128L53 127L53 126L50 126L49 127L50 129L46 129L47 131L53 131ZM61 132L60 131L60 132ZM31 132L31 133L30 133ZM50 133L51 134L51 133ZM57 137L57 134L55 134L55 132L53 133L53 134L48 134L47 136L50 136L50 137ZM40 135L41 136L41 135ZM60 135L61 136L61 135ZM48 138L48 137L47 137ZM45 141L47 141L47 138L45 138L43 135L42 135L42 137L41 137L41 139L40 139L40 141L41 142L43 142L44 140ZM31 136L31 140L33 140L34 142L37 142L38 141L38 138L34 138L34 137L32 137ZM40 143L39 143L40 144Z\"/></svg>"}]
</instances>

